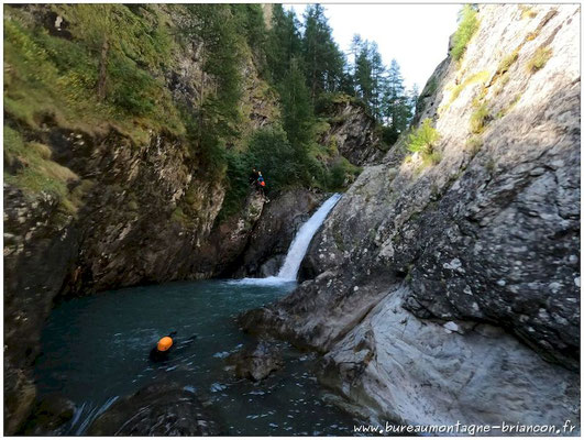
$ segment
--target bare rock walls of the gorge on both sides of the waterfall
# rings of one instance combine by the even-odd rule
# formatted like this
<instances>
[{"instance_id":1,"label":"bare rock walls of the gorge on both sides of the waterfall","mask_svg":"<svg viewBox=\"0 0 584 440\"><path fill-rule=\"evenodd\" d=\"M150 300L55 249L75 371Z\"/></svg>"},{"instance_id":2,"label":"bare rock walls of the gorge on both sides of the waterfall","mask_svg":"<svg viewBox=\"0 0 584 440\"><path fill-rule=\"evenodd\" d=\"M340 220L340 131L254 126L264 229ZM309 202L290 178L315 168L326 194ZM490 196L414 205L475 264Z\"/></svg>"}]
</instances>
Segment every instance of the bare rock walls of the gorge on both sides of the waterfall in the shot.
<instances>
[{"instance_id":1,"label":"bare rock walls of the gorge on both sides of the waterfall","mask_svg":"<svg viewBox=\"0 0 584 440\"><path fill-rule=\"evenodd\" d=\"M26 8L26 20L70 37L67 15ZM170 7L153 11L140 13L180 21ZM580 8L491 4L477 16L464 56L438 66L411 132L392 147L362 106L326 109L320 144L362 172L312 240L302 284L239 317L250 333L318 352L319 382L338 404L379 424L580 420ZM201 47L181 47L156 72L176 101L202 95ZM280 119L249 52L242 138ZM65 201L4 179L9 435L59 433L54 420L26 428L31 411L47 413L32 365L55 304L128 286L275 275L327 196L298 187L266 199L247 188L240 209L222 216L229 180L170 130L136 136L111 121L88 127L42 111L32 123L11 111L7 120L66 176ZM425 123L439 134L430 158L408 150ZM29 162L4 153L9 175ZM229 362L239 376L263 380L285 365L268 346ZM69 404L54 406L57 419L73 417ZM211 420L190 391L155 385L118 400L89 432L222 433Z\"/></svg>"}]
</instances>

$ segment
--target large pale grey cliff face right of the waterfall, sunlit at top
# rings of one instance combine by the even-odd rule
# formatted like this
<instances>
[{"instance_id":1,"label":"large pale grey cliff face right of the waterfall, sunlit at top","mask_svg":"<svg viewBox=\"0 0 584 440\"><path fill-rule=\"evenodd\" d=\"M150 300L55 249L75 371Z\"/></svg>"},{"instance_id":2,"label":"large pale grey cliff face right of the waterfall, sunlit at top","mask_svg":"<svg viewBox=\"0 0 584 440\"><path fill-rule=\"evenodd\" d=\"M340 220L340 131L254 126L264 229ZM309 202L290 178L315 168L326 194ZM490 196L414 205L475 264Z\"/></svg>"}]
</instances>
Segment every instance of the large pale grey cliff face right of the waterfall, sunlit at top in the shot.
<instances>
[{"instance_id":1,"label":"large pale grey cliff face right of the waterfall, sunlit at top","mask_svg":"<svg viewBox=\"0 0 584 440\"><path fill-rule=\"evenodd\" d=\"M324 353L374 420L560 426L580 419L580 8L477 16L420 99L433 161L400 139L365 167L315 278L241 322Z\"/></svg>"}]
</instances>

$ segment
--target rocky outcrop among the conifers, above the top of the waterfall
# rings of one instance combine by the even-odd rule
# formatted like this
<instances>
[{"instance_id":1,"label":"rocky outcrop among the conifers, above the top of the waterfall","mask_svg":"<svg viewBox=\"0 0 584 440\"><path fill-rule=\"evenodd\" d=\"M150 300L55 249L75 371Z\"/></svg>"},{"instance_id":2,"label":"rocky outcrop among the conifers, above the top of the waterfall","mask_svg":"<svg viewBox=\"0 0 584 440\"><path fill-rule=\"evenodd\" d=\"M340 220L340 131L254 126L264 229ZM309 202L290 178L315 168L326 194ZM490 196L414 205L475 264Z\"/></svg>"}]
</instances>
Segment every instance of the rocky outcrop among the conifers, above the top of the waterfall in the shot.
<instances>
[{"instance_id":1,"label":"rocky outcrop among the conifers, above the top of the waterfall","mask_svg":"<svg viewBox=\"0 0 584 440\"><path fill-rule=\"evenodd\" d=\"M375 120L366 110L352 102L337 102L328 109L330 129L320 139L323 145L335 146L353 165L379 162L384 156Z\"/></svg>"}]
</instances>

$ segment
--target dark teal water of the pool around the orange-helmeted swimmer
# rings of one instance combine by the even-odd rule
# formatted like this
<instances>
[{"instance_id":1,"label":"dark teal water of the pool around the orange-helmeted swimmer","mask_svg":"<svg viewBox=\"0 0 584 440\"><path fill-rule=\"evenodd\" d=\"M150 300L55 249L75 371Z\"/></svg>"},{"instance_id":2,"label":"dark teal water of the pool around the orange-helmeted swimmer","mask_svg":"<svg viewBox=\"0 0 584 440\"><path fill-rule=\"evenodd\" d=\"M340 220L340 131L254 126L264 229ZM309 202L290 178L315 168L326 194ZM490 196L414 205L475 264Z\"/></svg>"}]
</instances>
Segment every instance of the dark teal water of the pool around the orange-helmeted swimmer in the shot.
<instances>
[{"instance_id":1,"label":"dark teal water of the pool around the orange-helmeted swimmer","mask_svg":"<svg viewBox=\"0 0 584 440\"><path fill-rule=\"evenodd\" d=\"M291 292L296 283L170 283L76 298L57 306L42 336L40 395L62 394L77 406L70 435L119 396L155 381L177 381L210 403L228 435L352 435L351 416L328 403L313 354L283 343L286 366L260 384L235 380L224 358L252 341L234 317ZM162 364L147 355L161 336L196 341Z\"/></svg>"}]
</instances>

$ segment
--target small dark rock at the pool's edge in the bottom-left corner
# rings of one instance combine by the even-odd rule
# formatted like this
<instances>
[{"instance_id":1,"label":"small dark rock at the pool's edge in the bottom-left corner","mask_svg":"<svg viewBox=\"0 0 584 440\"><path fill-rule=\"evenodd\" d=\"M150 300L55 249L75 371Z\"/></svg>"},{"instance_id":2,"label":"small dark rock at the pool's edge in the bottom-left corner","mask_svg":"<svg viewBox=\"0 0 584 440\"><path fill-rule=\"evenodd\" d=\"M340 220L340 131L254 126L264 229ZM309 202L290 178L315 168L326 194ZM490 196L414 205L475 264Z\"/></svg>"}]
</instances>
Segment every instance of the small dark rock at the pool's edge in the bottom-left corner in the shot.
<instances>
[{"instance_id":1,"label":"small dark rock at the pool's edge in the bottom-left corner","mask_svg":"<svg viewBox=\"0 0 584 440\"><path fill-rule=\"evenodd\" d=\"M63 436L75 414L75 405L64 396L46 396L37 402L24 428L26 436Z\"/></svg>"}]
</instances>

